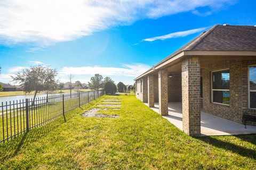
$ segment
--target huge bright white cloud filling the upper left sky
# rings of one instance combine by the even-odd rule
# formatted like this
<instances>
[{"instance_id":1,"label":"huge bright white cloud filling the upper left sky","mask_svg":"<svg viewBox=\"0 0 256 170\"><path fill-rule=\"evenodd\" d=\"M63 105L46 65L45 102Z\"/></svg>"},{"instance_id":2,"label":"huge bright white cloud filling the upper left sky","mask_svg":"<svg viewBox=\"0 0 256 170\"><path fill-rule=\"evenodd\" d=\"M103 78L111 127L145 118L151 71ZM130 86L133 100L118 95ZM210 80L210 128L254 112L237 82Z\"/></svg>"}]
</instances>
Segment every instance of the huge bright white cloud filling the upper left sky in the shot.
<instances>
[{"instance_id":1,"label":"huge bright white cloud filling the upper left sky","mask_svg":"<svg viewBox=\"0 0 256 170\"><path fill-rule=\"evenodd\" d=\"M216 11L228 0L2 0L0 43L36 43L40 46L73 40L139 19L180 12L199 14L198 7ZM33 52L35 49L31 49ZM36 49L37 50L37 49Z\"/></svg>"}]
</instances>

